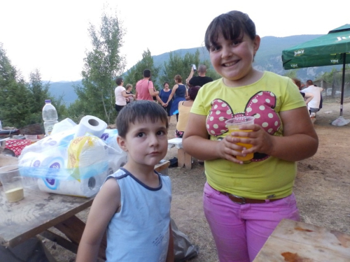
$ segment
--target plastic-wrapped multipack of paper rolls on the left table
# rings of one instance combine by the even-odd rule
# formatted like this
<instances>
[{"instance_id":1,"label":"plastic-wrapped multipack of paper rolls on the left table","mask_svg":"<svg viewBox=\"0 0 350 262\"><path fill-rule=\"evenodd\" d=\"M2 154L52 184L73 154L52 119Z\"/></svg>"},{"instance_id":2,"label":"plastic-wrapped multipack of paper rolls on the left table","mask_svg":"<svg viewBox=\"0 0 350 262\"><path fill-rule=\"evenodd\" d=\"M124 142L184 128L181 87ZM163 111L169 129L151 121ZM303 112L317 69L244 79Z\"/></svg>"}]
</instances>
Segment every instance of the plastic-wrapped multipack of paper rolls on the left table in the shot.
<instances>
[{"instance_id":1,"label":"plastic-wrapped multipack of paper rolls on the left table","mask_svg":"<svg viewBox=\"0 0 350 262\"><path fill-rule=\"evenodd\" d=\"M110 144L96 136L75 137L76 126L54 133L25 147L19 158L21 175L36 188L55 194L91 197L106 177L127 161L127 154L113 144L118 132L106 131Z\"/></svg>"}]
</instances>

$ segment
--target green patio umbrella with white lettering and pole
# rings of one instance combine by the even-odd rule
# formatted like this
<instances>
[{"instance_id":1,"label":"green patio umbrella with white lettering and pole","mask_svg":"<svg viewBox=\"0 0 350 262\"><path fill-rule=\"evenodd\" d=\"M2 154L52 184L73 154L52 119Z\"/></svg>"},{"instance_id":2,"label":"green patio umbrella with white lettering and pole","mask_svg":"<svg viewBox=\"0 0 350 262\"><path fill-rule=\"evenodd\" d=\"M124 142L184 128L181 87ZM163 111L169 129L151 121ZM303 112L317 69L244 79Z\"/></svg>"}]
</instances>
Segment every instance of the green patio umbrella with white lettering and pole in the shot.
<instances>
[{"instance_id":1,"label":"green patio umbrella with white lettering and pole","mask_svg":"<svg viewBox=\"0 0 350 262\"><path fill-rule=\"evenodd\" d=\"M340 99L340 117L342 117L345 64L350 64L350 24L344 24L342 27L329 31L324 36L283 50L282 61L285 70L342 64L342 94Z\"/></svg>"}]
</instances>

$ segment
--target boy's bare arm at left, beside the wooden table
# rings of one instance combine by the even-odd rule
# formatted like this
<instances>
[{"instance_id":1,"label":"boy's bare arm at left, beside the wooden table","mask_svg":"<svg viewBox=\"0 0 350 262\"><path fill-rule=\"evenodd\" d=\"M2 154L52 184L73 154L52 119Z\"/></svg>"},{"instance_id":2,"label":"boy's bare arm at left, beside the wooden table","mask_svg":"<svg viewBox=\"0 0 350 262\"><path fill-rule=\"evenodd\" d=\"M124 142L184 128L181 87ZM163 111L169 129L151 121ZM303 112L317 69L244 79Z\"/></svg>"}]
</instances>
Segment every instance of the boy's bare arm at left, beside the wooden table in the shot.
<instances>
[{"instance_id":1,"label":"boy's bare arm at left, beside the wooden table","mask_svg":"<svg viewBox=\"0 0 350 262\"><path fill-rule=\"evenodd\" d=\"M78 247L76 262L97 261L104 232L111 217L119 208L120 187L118 182L111 178L104 183L102 189L94 198Z\"/></svg>"}]
</instances>

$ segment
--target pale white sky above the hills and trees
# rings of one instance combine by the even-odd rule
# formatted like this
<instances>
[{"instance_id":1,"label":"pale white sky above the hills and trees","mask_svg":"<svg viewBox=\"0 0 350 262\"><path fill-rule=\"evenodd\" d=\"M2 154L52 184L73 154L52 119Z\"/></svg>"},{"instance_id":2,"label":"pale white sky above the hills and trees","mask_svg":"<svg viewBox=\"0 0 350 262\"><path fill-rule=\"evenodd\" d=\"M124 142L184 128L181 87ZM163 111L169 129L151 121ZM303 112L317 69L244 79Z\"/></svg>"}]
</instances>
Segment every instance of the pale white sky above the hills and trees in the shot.
<instances>
[{"instance_id":1,"label":"pale white sky above the hills and trees","mask_svg":"<svg viewBox=\"0 0 350 262\"><path fill-rule=\"evenodd\" d=\"M91 50L87 29L89 24L99 27L106 5L126 31L121 49L125 71L147 49L158 55L204 46L211 20L230 10L247 13L260 37L328 34L350 24L350 5L343 0L0 0L0 43L26 80L35 69L42 80L80 80Z\"/></svg>"}]
</instances>

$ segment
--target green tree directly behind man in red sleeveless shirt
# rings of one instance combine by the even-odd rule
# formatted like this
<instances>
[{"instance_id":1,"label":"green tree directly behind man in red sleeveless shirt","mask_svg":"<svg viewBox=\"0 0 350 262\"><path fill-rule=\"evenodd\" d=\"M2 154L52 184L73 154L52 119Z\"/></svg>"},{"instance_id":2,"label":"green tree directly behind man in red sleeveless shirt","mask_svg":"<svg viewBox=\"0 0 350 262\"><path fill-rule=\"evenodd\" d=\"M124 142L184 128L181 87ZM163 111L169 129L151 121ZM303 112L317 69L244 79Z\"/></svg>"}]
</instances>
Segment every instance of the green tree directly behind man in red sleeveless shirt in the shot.
<instances>
[{"instance_id":1,"label":"green tree directly behind man in red sleeveless shirt","mask_svg":"<svg viewBox=\"0 0 350 262\"><path fill-rule=\"evenodd\" d=\"M124 84L132 84L132 86L135 87L137 81L144 78L143 73L145 69L151 70L151 79L153 80L155 88L158 89L158 85L160 84L158 82L160 67L154 66L153 57L149 49L142 53L141 61L138 61L137 64L132 66L132 68L130 68L130 70L127 72L124 77Z\"/></svg>"}]
</instances>

